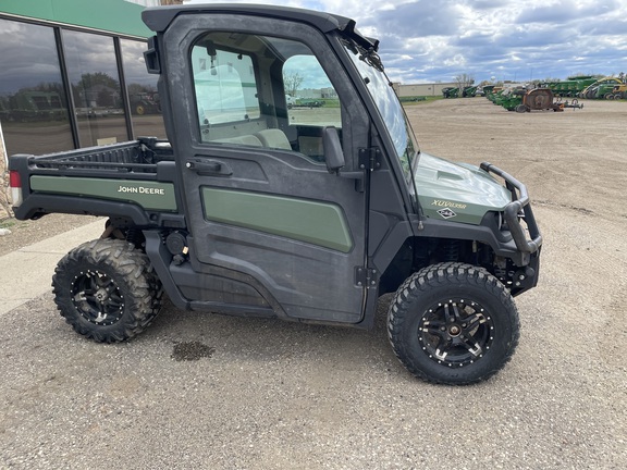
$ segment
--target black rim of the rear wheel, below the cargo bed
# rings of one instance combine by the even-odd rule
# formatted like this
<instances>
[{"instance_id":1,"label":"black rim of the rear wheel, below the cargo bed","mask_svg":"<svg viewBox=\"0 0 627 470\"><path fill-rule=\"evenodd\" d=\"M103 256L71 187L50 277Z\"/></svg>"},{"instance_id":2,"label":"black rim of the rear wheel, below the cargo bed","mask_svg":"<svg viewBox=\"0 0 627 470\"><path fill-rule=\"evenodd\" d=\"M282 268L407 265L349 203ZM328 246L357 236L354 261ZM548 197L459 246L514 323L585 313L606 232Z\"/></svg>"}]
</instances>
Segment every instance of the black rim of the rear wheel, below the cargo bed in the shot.
<instances>
[{"instance_id":1,"label":"black rim of the rear wheel, below the cargo bed","mask_svg":"<svg viewBox=\"0 0 627 470\"><path fill-rule=\"evenodd\" d=\"M124 296L118 284L99 271L82 272L72 283L72 302L90 323L107 326L124 312Z\"/></svg>"}]
</instances>

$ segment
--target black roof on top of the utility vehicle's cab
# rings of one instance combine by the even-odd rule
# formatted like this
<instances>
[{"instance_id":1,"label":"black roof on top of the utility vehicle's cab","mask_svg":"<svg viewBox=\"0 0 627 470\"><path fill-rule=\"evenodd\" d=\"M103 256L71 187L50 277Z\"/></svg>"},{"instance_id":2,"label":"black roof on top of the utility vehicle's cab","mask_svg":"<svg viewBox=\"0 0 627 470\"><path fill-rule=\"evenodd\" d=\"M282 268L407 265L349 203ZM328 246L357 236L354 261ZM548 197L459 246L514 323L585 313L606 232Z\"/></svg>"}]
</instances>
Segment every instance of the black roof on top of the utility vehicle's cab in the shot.
<instances>
[{"instance_id":1,"label":"black roof on top of the utility vehicle's cab","mask_svg":"<svg viewBox=\"0 0 627 470\"><path fill-rule=\"evenodd\" d=\"M351 18L323 13L312 10L304 10L288 7L247 4L247 3L214 3L214 4L186 4L172 7L153 7L142 12L142 20L150 29L156 33L162 33L168 25L180 14L198 14L198 13L236 13L250 14L256 16L268 16L275 18L285 18L307 23L316 28L328 33L333 29L348 29L355 27L355 22Z\"/></svg>"}]
</instances>

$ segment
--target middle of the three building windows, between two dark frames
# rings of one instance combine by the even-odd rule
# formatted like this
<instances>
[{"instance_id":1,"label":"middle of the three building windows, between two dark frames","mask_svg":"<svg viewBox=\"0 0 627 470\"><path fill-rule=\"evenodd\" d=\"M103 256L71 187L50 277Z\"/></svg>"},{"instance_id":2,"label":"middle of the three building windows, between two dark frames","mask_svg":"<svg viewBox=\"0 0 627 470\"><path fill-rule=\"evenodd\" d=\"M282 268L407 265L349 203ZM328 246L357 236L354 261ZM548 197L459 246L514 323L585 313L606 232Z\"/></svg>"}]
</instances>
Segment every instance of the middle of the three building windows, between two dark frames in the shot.
<instances>
[{"instance_id":1,"label":"middle of the three building windows, between two dark frames","mask_svg":"<svg viewBox=\"0 0 627 470\"><path fill-rule=\"evenodd\" d=\"M81 147L128 139L113 38L63 30Z\"/></svg>"}]
</instances>

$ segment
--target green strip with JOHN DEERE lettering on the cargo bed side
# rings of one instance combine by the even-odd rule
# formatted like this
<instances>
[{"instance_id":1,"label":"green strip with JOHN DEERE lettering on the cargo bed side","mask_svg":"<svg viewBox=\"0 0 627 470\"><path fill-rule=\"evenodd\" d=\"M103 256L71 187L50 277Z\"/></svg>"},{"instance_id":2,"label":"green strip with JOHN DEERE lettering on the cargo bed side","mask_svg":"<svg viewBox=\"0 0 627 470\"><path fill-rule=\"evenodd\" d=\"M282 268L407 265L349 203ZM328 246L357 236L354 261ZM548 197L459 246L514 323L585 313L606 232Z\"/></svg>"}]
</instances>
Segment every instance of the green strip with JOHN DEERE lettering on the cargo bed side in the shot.
<instances>
[{"instance_id":1,"label":"green strip with JOHN DEERE lettering on the cargo bed side","mask_svg":"<svg viewBox=\"0 0 627 470\"><path fill-rule=\"evenodd\" d=\"M36 193L127 201L147 210L176 211L172 183L34 175L30 176L30 189Z\"/></svg>"}]
</instances>

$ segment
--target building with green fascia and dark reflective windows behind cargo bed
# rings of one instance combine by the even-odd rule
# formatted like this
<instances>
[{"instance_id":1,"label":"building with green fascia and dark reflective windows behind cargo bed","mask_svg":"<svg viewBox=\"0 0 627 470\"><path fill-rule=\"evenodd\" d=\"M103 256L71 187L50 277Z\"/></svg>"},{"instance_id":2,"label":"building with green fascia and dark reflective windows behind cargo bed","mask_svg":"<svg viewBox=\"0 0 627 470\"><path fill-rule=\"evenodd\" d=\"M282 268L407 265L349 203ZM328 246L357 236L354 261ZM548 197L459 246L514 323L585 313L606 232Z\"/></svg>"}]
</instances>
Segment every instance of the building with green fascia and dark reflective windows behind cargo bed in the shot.
<instances>
[{"instance_id":1,"label":"building with green fascia and dark reflective windows behind cargo bed","mask_svg":"<svg viewBox=\"0 0 627 470\"><path fill-rule=\"evenodd\" d=\"M142 3L142 4L137 4ZM144 65L158 0L0 2L0 139L9 154L164 137Z\"/></svg>"}]
</instances>

